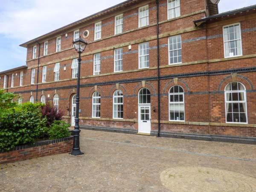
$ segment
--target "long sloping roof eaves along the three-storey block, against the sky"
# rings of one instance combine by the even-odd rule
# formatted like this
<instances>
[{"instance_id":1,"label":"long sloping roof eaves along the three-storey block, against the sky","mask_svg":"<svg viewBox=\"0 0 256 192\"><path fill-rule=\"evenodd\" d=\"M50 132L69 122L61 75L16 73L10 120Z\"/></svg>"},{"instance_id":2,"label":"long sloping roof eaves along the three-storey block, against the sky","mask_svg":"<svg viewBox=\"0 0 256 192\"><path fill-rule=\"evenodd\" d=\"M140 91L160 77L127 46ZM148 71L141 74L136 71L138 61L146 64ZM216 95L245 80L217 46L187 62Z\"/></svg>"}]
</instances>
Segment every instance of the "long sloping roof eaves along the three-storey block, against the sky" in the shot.
<instances>
[{"instance_id":1,"label":"long sloping roof eaves along the three-storey block, against the sky","mask_svg":"<svg viewBox=\"0 0 256 192\"><path fill-rule=\"evenodd\" d=\"M52 35L57 35L57 34L59 34L61 32L64 32L64 31L66 31L68 29L75 28L75 27L77 27L77 26L79 26L81 24L87 23L87 22L89 22L91 20L96 20L98 17L102 17L104 15L108 15L108 14L116 11L117 9L122 9L124 7L128 7L128 6L134 5L134 4L138 3L138 2L143 2L143 0L126 0L126 1L124 1L122 3L119 3L119 4L115 5L115 6L110 7L108 9L104 9L104 10L102 10L100 12L97 12L97 13L95 13L93 15L90 15L88 17L84 17L83 19L80 19L80 20L78 20L76 22L70 23L70 24L68 24L66 26L63 26L63 27L59 28L59 29L55 29L54 31L51 31L51 32L49 32L47 34L41 35L41 36L39 36L39 37L37 37L35 39L27 41L26 43L20 44L20 46L21 47L28 47L29 44L33 44L33 43L35 43L37 41L40 41L40 40L42 40L44 38L48 38L48 37L50 37Z\"/></svg>"}]
</instances>

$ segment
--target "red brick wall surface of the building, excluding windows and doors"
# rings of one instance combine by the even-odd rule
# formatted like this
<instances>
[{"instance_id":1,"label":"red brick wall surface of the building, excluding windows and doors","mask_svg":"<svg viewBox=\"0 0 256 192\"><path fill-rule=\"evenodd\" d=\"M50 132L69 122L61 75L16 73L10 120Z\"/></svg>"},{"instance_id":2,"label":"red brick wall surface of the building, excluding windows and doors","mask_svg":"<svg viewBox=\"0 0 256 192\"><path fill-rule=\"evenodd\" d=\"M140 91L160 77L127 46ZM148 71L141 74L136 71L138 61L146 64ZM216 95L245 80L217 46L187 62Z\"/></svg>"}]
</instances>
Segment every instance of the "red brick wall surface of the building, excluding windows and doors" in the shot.
<instances>
[{"instance_id":1,"label":"red brick wall surface of the building, excluding windows and doors","mask_svg":"<svg viewBox=\"0 0 256 192\"><path fill-rule=\"evenodd\" d=\"M138 8L148 5L149 24L138 28ZM160 126L161 132L180 134L208 134L222 136L256 137L256 12L250 10L235 16L209 20L200 26L194 21L208 14L205 0L180 0L180 17L167 18L167 0L159 1L159 53L160 53ZM123 32L114 35L114 18L123 14ZM207 15L209 16L209 15ZM72 59L78 54L73 48L73 31L88 30L84 39L88 45L82 53L80 124L138 130L138 92L146 87L151 93L151 132L158 130L157 114L157 6L154 0L137 0L115 11L98 16L83 24L67 27L40 37L39 45L29 41L27 69L23 70L23 86L19 86L20 70L8 72L8 91L20 94L23 102L30 96L40 101L41 95L59 96L59 108L65 112L65 120L71 122L72 96L76 92L76 79L72 79ZM94 23L102 21L102 38L94 41ZM242 55L224 57L223 26L240 23ZM66 36L67 34L67 36ZM182 63L169 64L168 38L181 37ZM61 36L61 51L55 52L56 38ZM44 42L48 41L48 55L43 56ZM139 69L140 43L149 44L149 67ZM37 45L37 57L32 59L32 47ZM131 50L128 46L131 45ZM122 47L122 72L114 73L114 49ZM100 75L93 76L93 54L101 53ZM60 80L54 81L54 66L60 62ZM47 66L47 82L42 83L42 67ZM31 69L35 68L35 84L31 85ZM66 70L64 70L66 68ZM36 88L38 74L38 91ZM11 74L17 73L14 86ZM3 76L0 73L0 87ZM177 79L176 79L177 78ZM247 123L227 123L224 88L238 81L244 84L247 98ZM184 90L184 121L169 121L169 89L180 85ZM113 119L113 93L123 93L123 119ZM92 95L101 95L100 118L92 118ZM38 96L36 98L36 92Z\"/></svg>"}]
</instances>

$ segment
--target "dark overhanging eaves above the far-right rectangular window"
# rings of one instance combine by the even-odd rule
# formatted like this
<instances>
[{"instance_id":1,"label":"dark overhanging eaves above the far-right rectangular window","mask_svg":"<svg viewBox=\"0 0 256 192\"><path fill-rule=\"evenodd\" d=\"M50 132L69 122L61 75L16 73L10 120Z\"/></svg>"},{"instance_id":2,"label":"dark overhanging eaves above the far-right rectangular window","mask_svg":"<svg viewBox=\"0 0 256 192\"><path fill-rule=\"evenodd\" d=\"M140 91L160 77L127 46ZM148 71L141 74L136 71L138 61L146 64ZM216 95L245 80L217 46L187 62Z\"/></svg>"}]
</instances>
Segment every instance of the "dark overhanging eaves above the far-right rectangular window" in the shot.
<instances>
[{"instance_id":1,"label":"dark overhanging eaves above the far-right rectangular window","mask_svg":"<svg viewBox=\"0 0 256 192\"><path fill-rule=\"evenodd\" d=\"M256 5L252 5L252 6L244 7L244 8L241 8L241 9L235 9L235 10L232 10L232 11L223 12L223 13L220 13L220 14L204 17L202 19L195 20L194 23L195 23L195 26L200 26L202 23L205 23L205 22L216 22L218 20L221 20L223 17L229 17L229 18L237 17L236 14L238 14L238 13L241 14L241 15L245 15L248 12L250 14L256 13Z\"/></svg>"}]
</instances>

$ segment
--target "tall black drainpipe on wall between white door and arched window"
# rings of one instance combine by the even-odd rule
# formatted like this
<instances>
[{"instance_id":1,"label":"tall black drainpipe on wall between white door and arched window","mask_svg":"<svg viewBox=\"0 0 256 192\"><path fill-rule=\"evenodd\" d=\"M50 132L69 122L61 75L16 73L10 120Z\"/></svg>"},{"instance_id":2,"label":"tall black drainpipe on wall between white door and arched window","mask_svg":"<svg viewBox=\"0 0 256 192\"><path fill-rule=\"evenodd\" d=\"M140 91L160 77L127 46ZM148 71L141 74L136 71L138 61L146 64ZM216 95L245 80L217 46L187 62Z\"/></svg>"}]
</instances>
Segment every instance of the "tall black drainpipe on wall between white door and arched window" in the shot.
<instances>
[{"instance_id":1,"label":"tall black drainpipe on wall between white door and arched window","mask_svg":"<svg viewBox=\"0 0 256 192\"><path fill-rule=\"evenodd\" d=\"M158 131L157 137L160 137L160 55L159 55L159 0L156 0L157 6L157 108L158 108Z\"/></svg>"}]
</instances>

